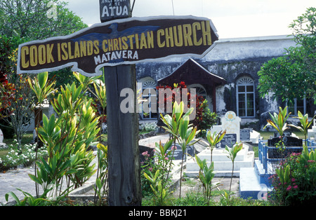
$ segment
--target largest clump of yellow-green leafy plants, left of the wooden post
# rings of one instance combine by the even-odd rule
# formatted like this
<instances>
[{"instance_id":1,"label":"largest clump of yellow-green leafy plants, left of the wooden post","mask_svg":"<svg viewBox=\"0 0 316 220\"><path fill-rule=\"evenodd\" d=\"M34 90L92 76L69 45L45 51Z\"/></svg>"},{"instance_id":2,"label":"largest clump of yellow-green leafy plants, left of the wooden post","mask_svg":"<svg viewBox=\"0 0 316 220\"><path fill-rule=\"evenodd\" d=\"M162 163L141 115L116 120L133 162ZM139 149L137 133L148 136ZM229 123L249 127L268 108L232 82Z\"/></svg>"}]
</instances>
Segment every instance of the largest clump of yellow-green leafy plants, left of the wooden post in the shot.
<instances>
[{"instance_id":1,"label":"largest clump of yellow-green leafy plants, left of the wooden post","mask_svg":"<svg viewBox=\"0 0 316 220\"><path fill-rule=\"evenodd\" d=\"M88 146L97 143L100 129L92 101L84 95L86 85L81 83L77 87L72 83L60 88L60 94L52 102L58 118L54 114L49 119L43 116L38 134L47 147L48 160L41 158L37 162L38 177L32 174L29 177L41 184L44 191L50 184L62 188L64 177L68 179L68 188L77 188L96 172Z\"/></svg>"}]
</instances>

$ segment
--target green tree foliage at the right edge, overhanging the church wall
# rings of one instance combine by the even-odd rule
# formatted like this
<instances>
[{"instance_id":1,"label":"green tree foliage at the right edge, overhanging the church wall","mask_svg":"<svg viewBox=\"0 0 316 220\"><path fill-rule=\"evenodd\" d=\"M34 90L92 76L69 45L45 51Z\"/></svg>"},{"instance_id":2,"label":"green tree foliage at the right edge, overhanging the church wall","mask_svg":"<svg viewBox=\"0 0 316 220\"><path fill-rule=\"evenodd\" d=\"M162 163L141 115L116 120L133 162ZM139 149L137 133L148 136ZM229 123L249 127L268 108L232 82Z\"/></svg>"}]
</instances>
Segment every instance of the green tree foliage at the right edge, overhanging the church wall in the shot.
<instances>
[{"instance_id":1,"label":"green tree foliage at the right edge, overhanging the church wall","mask_svg":"<svg viewBox=\"0 0 316 220\"><path fill-rule=\"evenodd\" d=\"M262 97L273 92L283 101L316 97L316 8L289 25L295 47L286 48L283 57L269 60L258 71L258 90Z\"/></svg>"}]
</instances>

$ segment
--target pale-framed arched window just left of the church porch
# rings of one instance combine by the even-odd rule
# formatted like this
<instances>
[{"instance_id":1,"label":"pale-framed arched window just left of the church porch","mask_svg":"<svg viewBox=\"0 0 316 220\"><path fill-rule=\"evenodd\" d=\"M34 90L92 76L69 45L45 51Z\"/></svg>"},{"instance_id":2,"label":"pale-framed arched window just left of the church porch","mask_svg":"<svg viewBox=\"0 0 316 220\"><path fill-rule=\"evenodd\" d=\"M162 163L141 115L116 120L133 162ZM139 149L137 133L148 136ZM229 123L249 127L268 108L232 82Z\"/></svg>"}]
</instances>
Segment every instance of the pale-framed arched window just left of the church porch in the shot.
<instances>
[{"instance_id":1,"label":"pale-framed arched window just left of the church porch","mask_svg":"<svg viewBox=\"0 0 316 220\"><path fill-rule=\"evenodd\" d=\"M157 118L157 92L156 92L157 83L152 78L146 78L142 82L142 118L143 119L152 119ZM154 109L153 109L154 108Z\"/></svg>"}]
</instances>

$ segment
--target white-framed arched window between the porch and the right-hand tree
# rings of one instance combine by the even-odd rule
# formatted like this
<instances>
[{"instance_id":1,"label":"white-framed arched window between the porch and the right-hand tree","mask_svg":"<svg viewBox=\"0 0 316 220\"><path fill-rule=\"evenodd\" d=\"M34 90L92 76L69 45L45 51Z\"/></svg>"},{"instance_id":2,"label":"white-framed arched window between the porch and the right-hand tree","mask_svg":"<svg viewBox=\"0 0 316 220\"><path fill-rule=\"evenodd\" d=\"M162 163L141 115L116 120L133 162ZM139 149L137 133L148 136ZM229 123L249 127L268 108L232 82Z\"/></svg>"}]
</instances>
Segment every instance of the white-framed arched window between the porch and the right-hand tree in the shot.
<instances>
[{"instance_id":1,"label":"white-framed arched window between the porch and the right-hand tree","mask_svg":"<svg viewBox=\"0 0 316 220\"><path fill-rule=\"evenodd\" d=\"M254 80L249 76L239 78L237 81L237 116L255 116L255 90Z\"/></svg>"}]
</instances>

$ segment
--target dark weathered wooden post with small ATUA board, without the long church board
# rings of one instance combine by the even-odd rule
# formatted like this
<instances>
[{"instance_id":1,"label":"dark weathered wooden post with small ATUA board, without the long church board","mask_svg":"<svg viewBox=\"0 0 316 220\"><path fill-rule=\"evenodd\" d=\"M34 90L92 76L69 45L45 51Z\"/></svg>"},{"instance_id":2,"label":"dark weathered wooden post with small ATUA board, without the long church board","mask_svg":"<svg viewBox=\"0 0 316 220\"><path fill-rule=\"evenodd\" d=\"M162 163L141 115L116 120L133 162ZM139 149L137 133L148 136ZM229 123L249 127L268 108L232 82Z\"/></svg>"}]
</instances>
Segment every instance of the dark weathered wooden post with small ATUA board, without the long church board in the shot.
<instances>
[{"instance_id":1,"label":"dark weathered wooden post with small ATUA board, without the long church board","mask_svg":"<svg viewBox=\"0 0 316 220\"><path fill-rule=\"evenodd\" d=\"M100 0L100 20L131 17L129 0L106 3ZM121 90L136 94L135 64L105 67L107 89L107 162L109 169L109 205L141 205L140 159L138 149L138 114L123 114ZM136 109L136 96L131 97Z\"/></svg>"}]
</instances>

